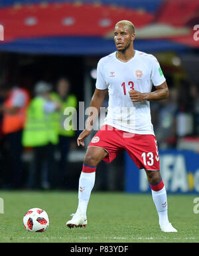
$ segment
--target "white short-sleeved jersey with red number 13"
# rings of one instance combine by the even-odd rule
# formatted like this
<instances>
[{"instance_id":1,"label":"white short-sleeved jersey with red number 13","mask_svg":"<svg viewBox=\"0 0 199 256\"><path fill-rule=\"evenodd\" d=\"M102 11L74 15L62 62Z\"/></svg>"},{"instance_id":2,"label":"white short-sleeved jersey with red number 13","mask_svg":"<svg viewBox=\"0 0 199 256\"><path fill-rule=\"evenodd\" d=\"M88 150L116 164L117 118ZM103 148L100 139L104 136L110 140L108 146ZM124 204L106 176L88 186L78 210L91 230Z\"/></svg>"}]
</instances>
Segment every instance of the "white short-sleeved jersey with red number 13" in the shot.
<instances>
[{"instance_id":1,"label":"white short-sleeved jersey with red number 13","mask_svg":"<svg viewBox=\"0 0 199 256\"><path fill-rule=\"evenodd\" d=\"M132 102L129 90L151 92L151 88L165 82L160 64L153 55L135 51L132 59L123 63L116 52L100 59L96 88L108 88L109 104L103 124L135 134L154 134L150 102Z\"/></svg>"}]
</instances>

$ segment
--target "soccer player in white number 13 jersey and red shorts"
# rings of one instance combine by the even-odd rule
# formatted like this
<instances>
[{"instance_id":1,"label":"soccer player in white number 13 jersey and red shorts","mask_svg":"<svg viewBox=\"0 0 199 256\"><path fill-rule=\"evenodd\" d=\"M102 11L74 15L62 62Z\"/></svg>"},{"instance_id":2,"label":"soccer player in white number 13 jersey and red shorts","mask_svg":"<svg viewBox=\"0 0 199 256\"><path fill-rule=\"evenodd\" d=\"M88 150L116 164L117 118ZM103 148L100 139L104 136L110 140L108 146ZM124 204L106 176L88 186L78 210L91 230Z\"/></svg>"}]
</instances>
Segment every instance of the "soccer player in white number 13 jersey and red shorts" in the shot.
<instances>
[{"instance_id":1,"label":"soccer player in white number 13 jersey and red shorts","mask_svg":"<svg viewBox=\"0 0 199 256\"><path fill-rule=\"evenodd\" d=\"M96 90L90 109L100 107L108 90L107 116L88 145L79 180L78 208L68 227L85 227L86 211L96 167L101 160L111 162L125 149L139 169L144 169L151 186L153 201L164 232L177 232L168 221L166 190L161 178L157 140L151 124L150 101L168 97L168 86L159 62L153 55L133 47L135 27L130 21L119 21L114 29L117 51L100 59L97 68ZM152 86L156 90L151 92ZM78 146L84 146L94 124L94 111L85 130L78 137Z\"/></svg>"}]
</instances>

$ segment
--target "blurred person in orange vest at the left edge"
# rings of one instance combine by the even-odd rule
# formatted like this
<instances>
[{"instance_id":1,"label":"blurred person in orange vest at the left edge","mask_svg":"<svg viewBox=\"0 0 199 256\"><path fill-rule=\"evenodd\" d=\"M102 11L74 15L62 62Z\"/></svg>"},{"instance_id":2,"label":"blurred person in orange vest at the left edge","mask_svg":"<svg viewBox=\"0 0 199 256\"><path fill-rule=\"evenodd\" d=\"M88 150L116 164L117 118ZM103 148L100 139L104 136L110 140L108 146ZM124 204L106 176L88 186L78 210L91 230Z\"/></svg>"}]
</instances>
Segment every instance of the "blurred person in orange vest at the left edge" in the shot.
<instances>
[{"instance_id":1,"label":"blurred person in orange vest at the left edge","mask_svg":"<svg viewBox=\"0 0 199 256\"><path fill-rule=\"evenodd\" d=\"M6 186L20 188L22 178L21 155L23 150L21 136L30 97L24 88L9 86L8 84L1 85L1 96L4 99L3 104L0 106L0 111L3 113L3 142L9 154L5 168L8 183ZM9 170L11 174L9 174Z\"/></svg>"}]
</instances>

